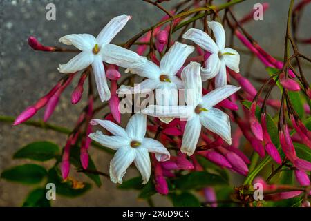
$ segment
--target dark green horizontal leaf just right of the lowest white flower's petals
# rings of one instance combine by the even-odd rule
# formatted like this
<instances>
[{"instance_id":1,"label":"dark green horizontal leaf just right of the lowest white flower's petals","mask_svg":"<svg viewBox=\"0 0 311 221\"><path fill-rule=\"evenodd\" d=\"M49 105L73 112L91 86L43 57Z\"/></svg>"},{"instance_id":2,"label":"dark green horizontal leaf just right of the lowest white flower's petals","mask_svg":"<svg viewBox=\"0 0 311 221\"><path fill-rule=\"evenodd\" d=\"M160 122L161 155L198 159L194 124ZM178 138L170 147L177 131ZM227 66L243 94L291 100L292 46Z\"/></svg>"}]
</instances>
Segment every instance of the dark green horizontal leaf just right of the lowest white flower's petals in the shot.
<instances>
[{"instance_id":1,"label":"dark green horizontal leaf just right of the lowest white flower's petals","mask_svg":"<svg viewBox=\"0 0 311 221\"><path fill-rule=\"evenodd\" d=\"M206 186L226 185L227 181L220 175L203 171L191 172L171 181L176 189L189 190L201 189Z\"/></svg>"}]
</instances>

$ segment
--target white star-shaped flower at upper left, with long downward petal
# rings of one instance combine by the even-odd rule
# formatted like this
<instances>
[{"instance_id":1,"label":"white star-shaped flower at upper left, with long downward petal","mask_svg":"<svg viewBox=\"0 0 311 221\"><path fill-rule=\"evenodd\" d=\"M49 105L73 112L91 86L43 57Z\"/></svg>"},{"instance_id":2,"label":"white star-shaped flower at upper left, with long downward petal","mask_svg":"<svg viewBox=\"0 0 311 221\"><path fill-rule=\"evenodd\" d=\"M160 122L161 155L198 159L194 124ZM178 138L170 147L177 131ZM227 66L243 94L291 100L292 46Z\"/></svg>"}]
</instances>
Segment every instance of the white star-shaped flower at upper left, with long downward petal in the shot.
<instances>
[{"instance_id":1,"label":"white star-shaped flower at upper left, with long downward petal","mask_svg":"<svg viewBox=\"0 0 311 221\"><path fill-rule=\"evenodd\" d=\"M140 59L145 60L145 58L140 57L131 50L109 44L129 19L131 19L131 16L128 15L120 15L111 19L96 38L89 34L73 34L61 37L59 42L66 45L73 45L81 50L81 52L70 59L67 64L60 64L58 68L59 72L74 73L91 64L100 99L102 102L109 100L110 90L107 85L102 61L118 66L126 65L126 68L128 68L134 62L140 61ZM118 58L117 61L115 57ZM122 61L122 65L119 64L119 61Z\"/></svg>"}]
</instances>

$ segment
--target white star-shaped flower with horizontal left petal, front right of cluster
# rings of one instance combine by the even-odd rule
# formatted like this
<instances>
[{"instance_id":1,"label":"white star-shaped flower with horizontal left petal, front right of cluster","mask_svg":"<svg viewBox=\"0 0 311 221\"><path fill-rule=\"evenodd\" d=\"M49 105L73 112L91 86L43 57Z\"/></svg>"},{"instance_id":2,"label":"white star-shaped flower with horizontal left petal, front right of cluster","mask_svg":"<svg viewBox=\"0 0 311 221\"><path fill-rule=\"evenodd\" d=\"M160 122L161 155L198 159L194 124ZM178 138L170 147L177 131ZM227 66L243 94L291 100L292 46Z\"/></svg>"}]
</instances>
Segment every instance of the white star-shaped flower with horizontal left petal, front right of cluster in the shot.
<instances>
[{"instance_id":1,"label":"white star-shaped flower with horizontal left petal, front right of cluster","mask_svg":"<svg viewBox=\"0 0 311 221\"><path fill-rule=\"evenodd\" d=\"M191 62L182 70L182 81L185 84L185 102L187 106L149 105L142 113L153 117L188 117L180 149L182 153L188 155L194 153L202 125L222 137L228 144L231 144L229 116L218 108L214 108L214 106L240 88L225 85L202 96L200 64L196 62Z\"/></svg>"}]
</instances>

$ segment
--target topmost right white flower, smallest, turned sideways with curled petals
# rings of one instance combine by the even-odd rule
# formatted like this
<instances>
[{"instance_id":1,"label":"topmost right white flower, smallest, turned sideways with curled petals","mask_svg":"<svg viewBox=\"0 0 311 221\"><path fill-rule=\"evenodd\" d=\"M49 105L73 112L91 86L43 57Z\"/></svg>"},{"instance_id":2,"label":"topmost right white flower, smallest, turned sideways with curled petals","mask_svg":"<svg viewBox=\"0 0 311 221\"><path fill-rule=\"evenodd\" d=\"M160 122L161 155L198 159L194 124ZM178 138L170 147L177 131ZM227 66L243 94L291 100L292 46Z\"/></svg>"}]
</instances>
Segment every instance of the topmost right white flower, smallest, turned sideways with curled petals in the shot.
<instances>
[{"instance_id":1,"label":"topmost right white flower, smallest, turned sideways with curled petals","mask_svg":"<svg viewBox=\"0 0 311 221\"><path fill-rule=\"evenodd\" d=\"M190 28L182 37L194 41L202 49L211 53L205 61L205 68L201 68L203 81L215 78L215 86L219 88L227 84L227 68L239 72L240 55L232 48L225 48L225 30L221 23L216 21L208 22L209 28L213 30L216 43L207 33L196 28Z\"/></svg>"}]
</instances>

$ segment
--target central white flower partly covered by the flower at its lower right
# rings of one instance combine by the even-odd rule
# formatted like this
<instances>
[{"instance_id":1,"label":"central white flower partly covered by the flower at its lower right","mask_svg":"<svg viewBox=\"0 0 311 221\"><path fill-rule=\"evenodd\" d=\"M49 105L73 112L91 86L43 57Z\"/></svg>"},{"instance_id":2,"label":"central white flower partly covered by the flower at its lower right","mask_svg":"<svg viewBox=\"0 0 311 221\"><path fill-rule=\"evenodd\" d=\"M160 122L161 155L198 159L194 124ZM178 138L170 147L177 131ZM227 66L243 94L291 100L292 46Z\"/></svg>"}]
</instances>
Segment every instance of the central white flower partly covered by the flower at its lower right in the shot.
<instances>
[{"instance_id":1,"label":"central white flower partly covered by the flower at its lower right","mask_svg":"<svg viewBox=\"0 0 311 221\"><path fill-rule=\"evenodd\" d=\"M183 84L176 74L193 51L194 46L175 42L162 57L160 66L152 61L141 61L135 68L129 68L131 73L146 77L147 79L137 84L135 88L122 85L117 90L117 93L129 94L141 93L144 90L156 90L156 102L158 105L177 105L177 89L183 88ZM173 90L176 93L173 93L175 92ZM160 93L162 93L162 96L160 96Z\"/></svg>"}]
</instances>

